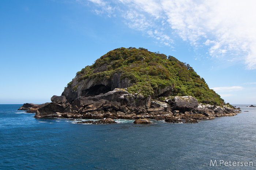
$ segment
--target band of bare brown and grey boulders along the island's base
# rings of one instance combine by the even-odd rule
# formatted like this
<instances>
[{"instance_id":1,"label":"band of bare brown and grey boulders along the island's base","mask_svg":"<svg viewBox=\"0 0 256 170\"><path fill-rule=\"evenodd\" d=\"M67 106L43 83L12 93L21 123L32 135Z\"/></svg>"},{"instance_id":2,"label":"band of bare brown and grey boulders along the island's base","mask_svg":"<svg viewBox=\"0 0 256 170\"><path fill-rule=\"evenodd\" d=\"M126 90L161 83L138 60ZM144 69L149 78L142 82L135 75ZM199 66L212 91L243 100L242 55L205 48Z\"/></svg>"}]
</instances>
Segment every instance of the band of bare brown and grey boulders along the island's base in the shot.
<instances>
[{"instance_id":1,"label":"band of bare brown and grey boulders along the island's base","mask_svg":"<svg viewBox=\"0 0 256 170\"><path fill-rule=\"evenodd\" d=\"M65 96L54 95L51 101L41 105L25 103L19 110L35 113L35 118L100 119L98 122L78 122L92 124L114 123L113 119L134 119L139 124L150 123L148 119L165 120L168 123L197 123L197 120L234 116L240 112L236 108L204 105L192 96L151 98L133 95L120 88L105 94L80 96L70 103Z\"/></svg>"}]
</instances>

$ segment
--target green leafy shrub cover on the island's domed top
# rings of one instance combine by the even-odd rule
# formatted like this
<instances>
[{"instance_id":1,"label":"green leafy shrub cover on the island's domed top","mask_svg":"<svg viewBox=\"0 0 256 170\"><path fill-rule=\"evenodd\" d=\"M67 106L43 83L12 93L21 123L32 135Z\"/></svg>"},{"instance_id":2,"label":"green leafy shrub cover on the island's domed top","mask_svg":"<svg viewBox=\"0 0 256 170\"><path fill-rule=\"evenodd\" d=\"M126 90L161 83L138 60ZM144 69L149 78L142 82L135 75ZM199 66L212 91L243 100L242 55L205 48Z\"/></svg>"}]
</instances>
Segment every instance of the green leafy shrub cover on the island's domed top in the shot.
<instances>
[{"instance_id":1,"label":"green leafy shrub cover on the island's domed top","mask_svg":"<svg viewBox=\"0 0 256 170\"><path fill-rule=\"evenodd\" d=\"M94 72L105 64L106 71ZM193 96L199 103L223 106L224 100L211 90L203 78L189 64L180 62L173 56L150 52L145 48L117 48L97 59L91 66L77 72L78 81L90 79L111 79L121 73L121 79L128 78L133 83L127 90L153 96L154 90L173 87L173 96ZM72 81L68 83L70 88ZM72 90L76 91L77 86Z\"/></svg>"}]
</instances>

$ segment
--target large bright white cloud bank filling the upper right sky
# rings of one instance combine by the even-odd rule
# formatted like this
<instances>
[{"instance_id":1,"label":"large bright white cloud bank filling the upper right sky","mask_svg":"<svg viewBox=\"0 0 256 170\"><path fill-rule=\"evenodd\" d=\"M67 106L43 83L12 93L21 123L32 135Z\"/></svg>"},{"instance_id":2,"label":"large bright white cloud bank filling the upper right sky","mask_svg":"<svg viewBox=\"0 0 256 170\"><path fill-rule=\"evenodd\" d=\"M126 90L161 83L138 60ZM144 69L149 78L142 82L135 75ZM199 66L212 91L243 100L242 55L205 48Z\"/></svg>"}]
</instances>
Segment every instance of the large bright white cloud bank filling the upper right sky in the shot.
<instances>
[{"instance_id":1,"label":"large bright white cloud bank filling the upper right sky","mask_svg":"<svg viewBox=\"0 0 256 170\"><path fill-rule=\"evenodd\" d=\"M241 60L256 69L256 1L233 0L90 0L108 16L118 15L132 29L166 46L178 35L213 58ZM98 13L99 13L98 12Z\"/></svg>"}]
</instances>

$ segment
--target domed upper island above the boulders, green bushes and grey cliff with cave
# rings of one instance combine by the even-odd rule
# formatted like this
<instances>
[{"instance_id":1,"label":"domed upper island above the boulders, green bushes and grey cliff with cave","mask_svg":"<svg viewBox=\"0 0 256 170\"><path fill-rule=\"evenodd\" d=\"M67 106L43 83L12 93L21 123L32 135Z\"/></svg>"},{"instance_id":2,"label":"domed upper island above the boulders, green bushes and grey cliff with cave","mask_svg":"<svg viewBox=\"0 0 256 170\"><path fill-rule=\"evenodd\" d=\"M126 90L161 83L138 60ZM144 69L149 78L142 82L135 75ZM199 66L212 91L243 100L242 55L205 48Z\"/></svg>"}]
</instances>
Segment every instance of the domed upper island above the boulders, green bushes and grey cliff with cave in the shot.
<instances>
[{"instance_id":1,"label":"domed upper island above the boulders, green bushes and grey cliff with cave","mask_svg":"<svg viewBox=\"0 0 256 170\"><path fill-rule=\"evenodd\" d=\"M62 95L71 103L80 96L105 94L115 88L145 97L188 95L201 103L223 104L189 64L144 48L118 48L101 56L79 71Z\"/></svg>"}]
</instances>

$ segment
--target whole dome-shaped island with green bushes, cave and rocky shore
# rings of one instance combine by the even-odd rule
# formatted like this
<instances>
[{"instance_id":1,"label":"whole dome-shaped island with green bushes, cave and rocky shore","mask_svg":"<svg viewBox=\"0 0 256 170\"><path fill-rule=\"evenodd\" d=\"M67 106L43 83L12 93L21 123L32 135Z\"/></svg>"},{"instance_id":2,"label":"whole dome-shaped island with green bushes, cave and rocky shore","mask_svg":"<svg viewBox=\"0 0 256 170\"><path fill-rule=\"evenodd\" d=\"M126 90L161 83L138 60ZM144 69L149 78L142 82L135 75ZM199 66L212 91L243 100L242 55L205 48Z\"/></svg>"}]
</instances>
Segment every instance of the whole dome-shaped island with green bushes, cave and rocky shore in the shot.
<instances>
[{"instance_id":1,"label":"whole dome-shaped island with green bushes, cave and rocky shore","mask_svg":"<svg viewBox=\"0 0 256 170\"><path fill-rule=\"evenodd\" d=\"M233 116L239 111L225 104L189 64L144 48L117 48L77 72L61 96L51 103L24 104L20 110L35 118L87 120L79 123L116 123L114 119L148 119L169 123Z\"/></svg>"}]
</instances>

